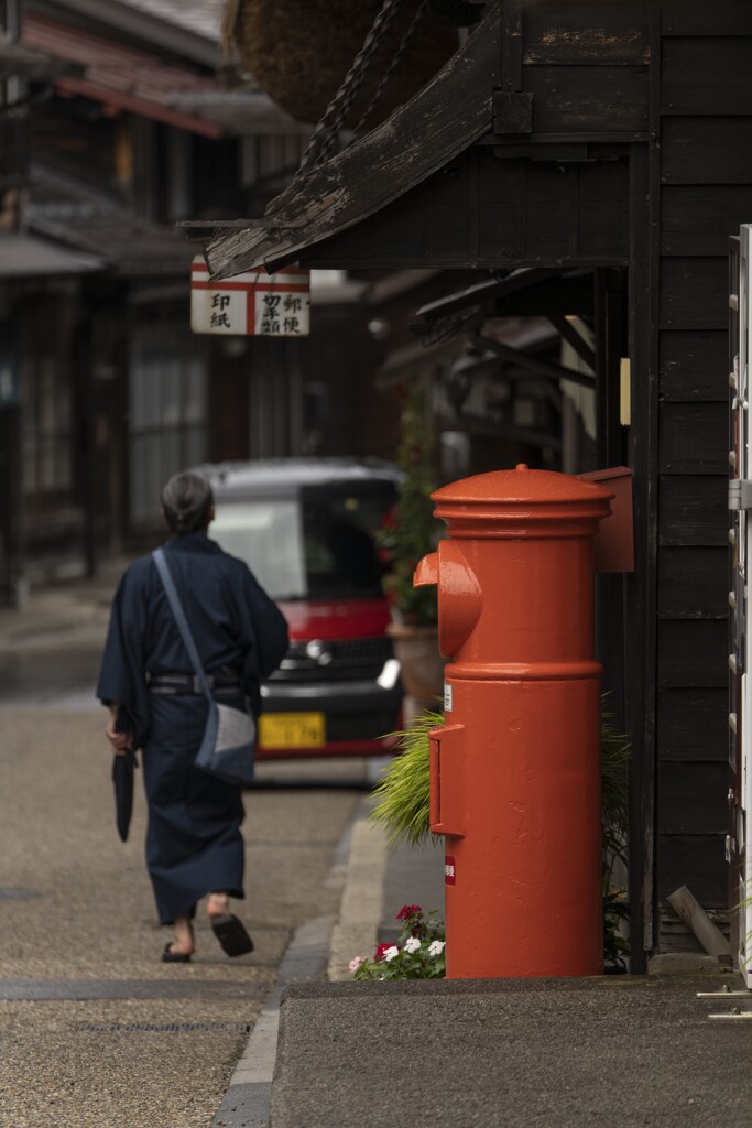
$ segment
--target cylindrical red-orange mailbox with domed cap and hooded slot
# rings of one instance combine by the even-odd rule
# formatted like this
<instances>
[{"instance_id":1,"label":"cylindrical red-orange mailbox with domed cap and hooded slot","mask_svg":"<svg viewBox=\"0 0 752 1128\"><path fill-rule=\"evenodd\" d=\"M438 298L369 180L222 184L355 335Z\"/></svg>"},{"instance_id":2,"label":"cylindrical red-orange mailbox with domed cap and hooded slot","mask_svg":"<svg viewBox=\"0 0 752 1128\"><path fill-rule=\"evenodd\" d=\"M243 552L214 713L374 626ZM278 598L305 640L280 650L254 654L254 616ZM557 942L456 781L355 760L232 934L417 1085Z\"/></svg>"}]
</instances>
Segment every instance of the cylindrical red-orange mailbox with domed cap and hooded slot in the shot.
<instances>
[{"instance_id":1,"label":"cylindrical red-orange mailbox with domed cap and hooded slot","mask_svg":"<svg viewBox=\"0 0 752 1128\"><path fill-rule=\"evenodd\" d=\"M587 976L603 967L600 676L593 537L613 494L498 470L432 494L444 728L431 829L445 836L450 978Z\"/></svg>"}]
</instances>

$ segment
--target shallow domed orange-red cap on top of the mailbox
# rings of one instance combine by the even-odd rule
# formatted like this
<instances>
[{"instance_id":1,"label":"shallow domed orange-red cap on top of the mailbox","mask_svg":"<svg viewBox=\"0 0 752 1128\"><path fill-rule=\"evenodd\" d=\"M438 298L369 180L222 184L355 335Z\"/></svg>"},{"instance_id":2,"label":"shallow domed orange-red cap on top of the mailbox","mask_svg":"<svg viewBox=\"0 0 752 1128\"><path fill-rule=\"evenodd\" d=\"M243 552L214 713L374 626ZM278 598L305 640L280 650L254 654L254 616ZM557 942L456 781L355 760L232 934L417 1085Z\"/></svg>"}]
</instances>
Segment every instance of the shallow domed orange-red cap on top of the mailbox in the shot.
<instances>
[{"instance_id":1,"label":"shallow domed orange-red cap on top of the mailbox","mask_svg":"<svg viewBox=\"0 0 752 1128\"><path fill-rule=\"evenodd\" d=\"M557 504L566 502L601 502L608 506L613 492L594 482L555 470L531 470L520 462L513 470L490 470L452 482L431 494L435 502L469 504Z\"/></svg>"}]
</instances>

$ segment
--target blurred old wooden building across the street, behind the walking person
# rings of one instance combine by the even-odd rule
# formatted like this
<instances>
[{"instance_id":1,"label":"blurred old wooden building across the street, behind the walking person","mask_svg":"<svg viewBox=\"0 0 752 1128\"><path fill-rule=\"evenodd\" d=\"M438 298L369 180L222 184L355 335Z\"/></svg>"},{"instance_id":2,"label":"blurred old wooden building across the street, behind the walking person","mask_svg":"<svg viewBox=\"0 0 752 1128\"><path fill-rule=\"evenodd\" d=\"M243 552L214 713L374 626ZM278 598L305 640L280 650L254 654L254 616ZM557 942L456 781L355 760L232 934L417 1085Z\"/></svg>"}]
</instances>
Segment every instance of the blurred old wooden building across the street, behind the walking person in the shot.
<instances>
[{"instance_id":1,"label":"blurred old wooden building across the street, behind the walking person","mask_svg":"<svg viewBox=\"0 0 752 1128\"><path fill-rule=\"evenodd\" d=\"M191 332L198 248L176 222L263 206L310 132L222 58L221 0L7 7L20 38L0 43L0 605L15 605L152 547L176 470L386 456L396 408L351 379L372 342L344 279L315 280L304 340Z\"/></svg>"}]
</instances>

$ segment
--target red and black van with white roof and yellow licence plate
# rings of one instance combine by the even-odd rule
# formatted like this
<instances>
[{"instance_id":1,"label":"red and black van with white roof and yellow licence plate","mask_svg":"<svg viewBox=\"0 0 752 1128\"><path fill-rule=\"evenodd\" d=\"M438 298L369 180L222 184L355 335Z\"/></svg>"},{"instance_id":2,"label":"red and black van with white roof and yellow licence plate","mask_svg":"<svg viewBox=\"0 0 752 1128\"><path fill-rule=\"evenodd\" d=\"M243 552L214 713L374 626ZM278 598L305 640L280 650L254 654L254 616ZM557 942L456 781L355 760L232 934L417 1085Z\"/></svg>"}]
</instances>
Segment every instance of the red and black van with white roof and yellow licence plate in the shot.
<instances>
[{"instance_id":1,"label":"red and black van with white roof and yellow licence plate","mask_svg":"<svg viewBox=\"0 0 752 1128\"><path fill-rule=\"evenodd\" d=\"M399 662L374 534L400 472L355 459L197 467L212 484L210 536L245 559L290 626L262 686L258 758L382 755L398 728Z\"/></svg>"}]
</instances>

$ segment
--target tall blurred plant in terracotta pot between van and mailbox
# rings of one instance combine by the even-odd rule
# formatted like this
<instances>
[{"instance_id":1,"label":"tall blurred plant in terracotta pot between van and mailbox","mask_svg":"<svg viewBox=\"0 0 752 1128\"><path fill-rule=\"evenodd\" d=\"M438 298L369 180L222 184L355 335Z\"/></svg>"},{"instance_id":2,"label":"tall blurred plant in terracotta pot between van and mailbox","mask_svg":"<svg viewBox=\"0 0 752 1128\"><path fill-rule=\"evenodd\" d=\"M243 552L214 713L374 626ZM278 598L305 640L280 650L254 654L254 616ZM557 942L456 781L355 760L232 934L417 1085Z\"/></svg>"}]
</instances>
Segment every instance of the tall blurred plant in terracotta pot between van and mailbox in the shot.
<instances>
[{"instance_id":1,"label":"tall blurred plant in terracotta pot between van and mailbox","mask_svg":"<svg viewBox=\"0 0 752 1128\"><path fill-rule=\"evenodd\" d=\"M392 623L388 633L400 660L406 694L421 706L441 697L444 662L439 653L436 589L414 588L413 573L441 536L433 515L434 444L427 397L416 381L407 393L400 417L397 462L402 470L397 503L377 536L386 571L383 590Z\"/></svg>"}]
</instances>

